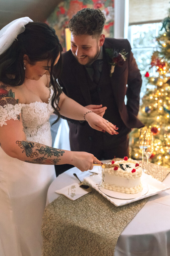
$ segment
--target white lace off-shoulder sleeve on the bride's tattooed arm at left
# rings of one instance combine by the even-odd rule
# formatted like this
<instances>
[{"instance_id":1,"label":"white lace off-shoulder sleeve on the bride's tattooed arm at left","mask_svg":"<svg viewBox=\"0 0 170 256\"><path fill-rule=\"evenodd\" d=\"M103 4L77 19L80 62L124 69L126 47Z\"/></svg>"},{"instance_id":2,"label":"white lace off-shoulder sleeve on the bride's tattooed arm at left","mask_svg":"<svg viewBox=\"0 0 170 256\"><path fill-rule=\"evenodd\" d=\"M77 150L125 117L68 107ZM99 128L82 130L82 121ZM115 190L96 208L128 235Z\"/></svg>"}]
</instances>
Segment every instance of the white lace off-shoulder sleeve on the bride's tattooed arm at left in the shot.
<instances>
[{"instance_id":1,"label":"white lace off-shoulder sleeve on the bride's tattooed arm at left","mask_svg":"<svg viewBox=\"0 0 170 256\"><path fill-rule=\"evenodd\" d=\"M22 104L7 104L4 107L0 106L0 126L7 125L6 121L11 118L17 120L17 115L21 113Z\"/></svg>"}]
</instances>

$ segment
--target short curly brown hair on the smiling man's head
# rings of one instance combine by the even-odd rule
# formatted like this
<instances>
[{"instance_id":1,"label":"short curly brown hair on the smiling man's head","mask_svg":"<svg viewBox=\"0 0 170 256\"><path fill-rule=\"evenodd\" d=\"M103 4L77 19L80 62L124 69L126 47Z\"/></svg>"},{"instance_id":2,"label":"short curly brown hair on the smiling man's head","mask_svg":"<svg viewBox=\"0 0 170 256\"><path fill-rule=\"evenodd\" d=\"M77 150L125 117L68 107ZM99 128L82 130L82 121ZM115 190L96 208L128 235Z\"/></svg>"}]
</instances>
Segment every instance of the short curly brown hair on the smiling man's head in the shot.
<instances>
[{"instance_id":1,"label":"short curly brown hair on the smiling man's head","mask_svg":"<svg viewBox=\"0 0 170 256\"><path fill-rule=\"evenodd\" d=\"M101 35L106 18L100 9L84 8L78 11L69 21L69 29L73 36Z\"/></svg>"}]
</instances>

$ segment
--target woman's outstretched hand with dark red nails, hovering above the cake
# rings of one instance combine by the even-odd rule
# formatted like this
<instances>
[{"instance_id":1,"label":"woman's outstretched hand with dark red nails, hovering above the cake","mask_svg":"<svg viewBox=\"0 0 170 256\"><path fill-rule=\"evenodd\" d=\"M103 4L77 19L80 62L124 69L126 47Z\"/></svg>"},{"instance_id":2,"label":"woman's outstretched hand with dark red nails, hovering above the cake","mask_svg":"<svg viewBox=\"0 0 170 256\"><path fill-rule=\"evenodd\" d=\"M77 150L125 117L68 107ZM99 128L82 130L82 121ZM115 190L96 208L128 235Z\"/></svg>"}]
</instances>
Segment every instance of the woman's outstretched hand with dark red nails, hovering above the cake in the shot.
<instances>
[{"instance_id":1,"label":"woman's outstretched hand with dark red nails, hovering above the cake","mask_svg":"<svg viewBox=\"0 0 170 256\"><path fill-rule=\"evenodd\" d=\"M118 127L116 127L116 125L110 123L108 120L102 118L101 116L93 112L86 113L85 119L88 122L88 124L95 130L108 132L109 134L112 135L118 134Z\"/></svg>"}]
</instances>

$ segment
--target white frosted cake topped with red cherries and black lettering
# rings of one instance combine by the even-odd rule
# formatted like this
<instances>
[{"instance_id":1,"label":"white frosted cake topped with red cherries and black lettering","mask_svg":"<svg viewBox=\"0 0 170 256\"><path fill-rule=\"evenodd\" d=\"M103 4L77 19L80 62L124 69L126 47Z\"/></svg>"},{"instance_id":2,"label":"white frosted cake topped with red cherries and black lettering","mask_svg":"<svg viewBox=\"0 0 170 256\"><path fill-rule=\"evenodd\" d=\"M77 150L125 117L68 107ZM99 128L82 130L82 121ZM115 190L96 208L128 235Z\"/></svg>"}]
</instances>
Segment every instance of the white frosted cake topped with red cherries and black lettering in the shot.
<instances>
[{"instance_id":1,"label":"white frosted cake topped with red cherries and black lettering","mask_svg":"<svg viewBox=\"0 0 170 256\"><path fill-rule=\"evenodd\" d=\"M124 159L127 160L113 161L119 167L102 168L101 186L121 193L136 194L142 190L142 168L136 160Z\"/></svg>"}]
</instances>

